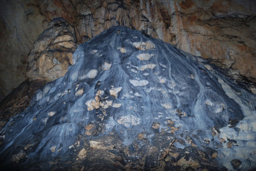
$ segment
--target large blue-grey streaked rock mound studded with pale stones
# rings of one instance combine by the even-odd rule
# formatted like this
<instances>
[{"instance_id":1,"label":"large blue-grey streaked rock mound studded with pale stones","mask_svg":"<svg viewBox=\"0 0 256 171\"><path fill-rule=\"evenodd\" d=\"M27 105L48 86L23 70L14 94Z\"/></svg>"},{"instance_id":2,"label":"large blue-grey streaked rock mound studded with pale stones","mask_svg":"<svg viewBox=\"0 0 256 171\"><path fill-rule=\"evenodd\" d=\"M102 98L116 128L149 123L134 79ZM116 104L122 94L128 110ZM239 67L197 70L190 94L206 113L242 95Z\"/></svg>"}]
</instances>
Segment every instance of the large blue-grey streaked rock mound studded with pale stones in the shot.
<instances>
[{"instance_id":1,"label":"large blue-grey streaked rock mound studded with pale stones","mask_svg":"<svg viewBox=\"0 0 256 171\"><path fill-rule=\"evenodd\" d=\"M113 27L1 130L5 170L248 170L256 96L203 58Z\"/></svg>"}]
</instances>

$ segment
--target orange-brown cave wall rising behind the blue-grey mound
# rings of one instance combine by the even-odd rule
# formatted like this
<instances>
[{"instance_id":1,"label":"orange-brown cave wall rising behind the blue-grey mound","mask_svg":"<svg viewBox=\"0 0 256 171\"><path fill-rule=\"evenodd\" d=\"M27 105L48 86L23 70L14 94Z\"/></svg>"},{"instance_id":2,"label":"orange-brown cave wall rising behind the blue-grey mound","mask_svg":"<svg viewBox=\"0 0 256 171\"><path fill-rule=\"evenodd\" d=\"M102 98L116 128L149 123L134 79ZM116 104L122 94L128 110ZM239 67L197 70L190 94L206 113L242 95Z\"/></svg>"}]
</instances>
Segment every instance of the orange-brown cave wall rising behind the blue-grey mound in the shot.
<instances>
[{"instance_id":1,"label":"orange-brown cave wall rising behind the blue-grey mound","mask_svg":"<svg viewBox=\"0 0 256 171\"><path fill-rule=\"evenodd\" d=\"M253 0L11 0L1 1L0 11L1 98L26 80L33 43L56 17L74 26L78 43L112 26L128 26L256 78Z\"/></svg>"}]
</instances>

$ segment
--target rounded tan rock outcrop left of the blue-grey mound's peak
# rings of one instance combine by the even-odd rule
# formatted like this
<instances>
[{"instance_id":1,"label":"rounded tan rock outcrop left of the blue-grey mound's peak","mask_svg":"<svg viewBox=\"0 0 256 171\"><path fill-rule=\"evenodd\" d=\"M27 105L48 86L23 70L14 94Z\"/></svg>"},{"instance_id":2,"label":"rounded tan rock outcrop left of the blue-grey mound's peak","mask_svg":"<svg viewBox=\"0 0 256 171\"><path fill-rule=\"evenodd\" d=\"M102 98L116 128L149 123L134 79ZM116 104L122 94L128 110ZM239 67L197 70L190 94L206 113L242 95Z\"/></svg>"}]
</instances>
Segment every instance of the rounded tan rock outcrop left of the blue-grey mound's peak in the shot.
<instances>
[{"instance_id":1,"label":"rounded tan rock outcrop left of the blue-grey mound's peak","mask_svg":"<svg viewBox=\"0 0 256 171\"><path fill-rule=\"evenodd\" d=\"M76 36L73 26L62 18L48 24L34 43L28 57L27 76L30 80L53 81L64 76L73 65Z\"/></svg>"}]
</instances>

